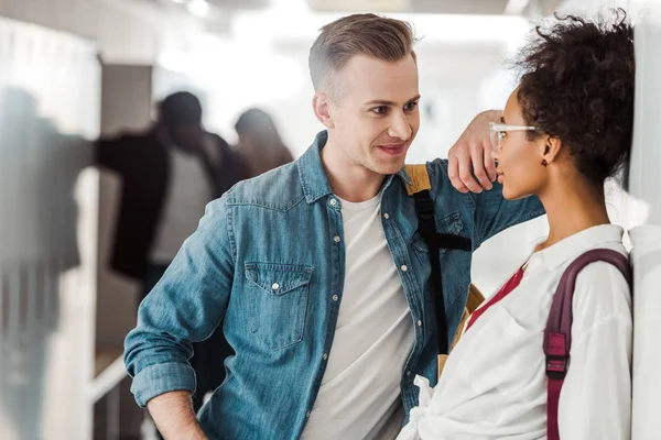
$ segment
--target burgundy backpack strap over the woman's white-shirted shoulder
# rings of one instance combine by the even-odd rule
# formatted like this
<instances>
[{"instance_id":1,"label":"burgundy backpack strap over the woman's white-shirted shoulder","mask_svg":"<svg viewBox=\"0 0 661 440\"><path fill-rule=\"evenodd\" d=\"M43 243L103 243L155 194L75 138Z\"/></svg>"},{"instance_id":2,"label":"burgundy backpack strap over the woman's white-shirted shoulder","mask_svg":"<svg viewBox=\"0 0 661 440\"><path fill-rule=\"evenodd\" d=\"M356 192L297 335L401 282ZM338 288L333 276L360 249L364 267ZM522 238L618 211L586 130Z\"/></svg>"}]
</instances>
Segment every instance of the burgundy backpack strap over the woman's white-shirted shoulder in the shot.
<instances>
[{"instance_id":1,"label":"burgundy backpack strap over the woman's white-shirted shoulder","mask_svg":"<svg viewBox=\"0 0 661 440\"><path fill-rule=\"evenodd\" d=\"M551 312L544 330L544 354L546 356L546 436L548 440L560 440L557 429L557 404L560 392L570 366L570 350L572 348L572 302L576 277L588 264L606 262L616 266L627 283L631 284L631 266L629 260L617 251L594 249L578 256L566 268L557 290L553 296Z\"/></svg>"}]
</instances>

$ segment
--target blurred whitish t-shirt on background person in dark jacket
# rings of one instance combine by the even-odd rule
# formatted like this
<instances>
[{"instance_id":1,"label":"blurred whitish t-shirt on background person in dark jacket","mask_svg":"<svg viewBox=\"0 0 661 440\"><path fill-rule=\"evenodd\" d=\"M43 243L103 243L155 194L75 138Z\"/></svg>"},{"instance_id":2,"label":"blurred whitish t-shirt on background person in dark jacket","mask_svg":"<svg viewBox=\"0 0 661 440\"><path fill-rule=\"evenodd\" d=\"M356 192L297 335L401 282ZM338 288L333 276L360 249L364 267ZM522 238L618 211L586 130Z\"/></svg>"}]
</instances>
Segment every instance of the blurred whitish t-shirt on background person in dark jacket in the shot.
<instances>
[{"instance_id":1,"label":"blurred whitish t-shirt on background person in dark jacket","mask_svg":"<svg viewBox=\"0 0 661 440\"><path fill-rule=\"evenodd\" d=\"M197 229L212 200L207 172L196 154L171 147L170 185L156 229L150 262L170 264L184 241Z\"/></svg>"}]
</instances>

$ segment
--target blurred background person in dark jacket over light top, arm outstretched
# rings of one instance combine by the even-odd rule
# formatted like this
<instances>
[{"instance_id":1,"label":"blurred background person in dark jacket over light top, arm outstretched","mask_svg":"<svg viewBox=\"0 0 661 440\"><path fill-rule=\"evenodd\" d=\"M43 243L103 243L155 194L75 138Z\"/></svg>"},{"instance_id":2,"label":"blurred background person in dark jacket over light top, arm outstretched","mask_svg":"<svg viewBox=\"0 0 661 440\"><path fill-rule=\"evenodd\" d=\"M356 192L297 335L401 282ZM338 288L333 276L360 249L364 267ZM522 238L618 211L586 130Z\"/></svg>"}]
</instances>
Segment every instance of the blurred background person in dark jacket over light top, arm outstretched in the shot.
<instances>
[{"instance_id":1,"label":"blurred background person in dark jacket over light top, arm outstretched","mask_svg":"<svg viewBox=\"0 0 661 440\"><path fill-rule=\"evenodd\" d=\"M145 132L99 140L97 163L122 180L111 266L142 283L141 300L195 231L205 206L247 177L227 142L204 130L199 100L185 91L160 103ZM230 353L223 332L196 345L196 408L223 383Z\"/></svg>"}]
</instances>

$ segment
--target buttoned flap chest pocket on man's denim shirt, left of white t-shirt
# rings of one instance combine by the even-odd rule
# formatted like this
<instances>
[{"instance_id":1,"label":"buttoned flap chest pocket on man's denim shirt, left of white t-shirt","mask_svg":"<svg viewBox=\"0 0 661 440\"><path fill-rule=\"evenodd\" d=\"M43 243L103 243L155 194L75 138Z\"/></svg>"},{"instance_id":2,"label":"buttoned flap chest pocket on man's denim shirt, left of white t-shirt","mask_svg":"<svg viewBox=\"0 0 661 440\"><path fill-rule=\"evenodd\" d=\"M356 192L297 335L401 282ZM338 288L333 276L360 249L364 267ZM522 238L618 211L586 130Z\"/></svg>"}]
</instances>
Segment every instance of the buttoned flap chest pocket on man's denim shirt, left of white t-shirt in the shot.
<instances>
[{"instance_id":1,"label":"buttoned flap chest pocket on man's denim shirt, left of white t-shirt","mask_svg":"<svg viewBox=\"0 0 661 440\"><path fill-rule=\"evenodd\" d=\"M246 264L250 331L270 349L303 339L313 271L293 264Z\"/></svg>"}]
</instances>

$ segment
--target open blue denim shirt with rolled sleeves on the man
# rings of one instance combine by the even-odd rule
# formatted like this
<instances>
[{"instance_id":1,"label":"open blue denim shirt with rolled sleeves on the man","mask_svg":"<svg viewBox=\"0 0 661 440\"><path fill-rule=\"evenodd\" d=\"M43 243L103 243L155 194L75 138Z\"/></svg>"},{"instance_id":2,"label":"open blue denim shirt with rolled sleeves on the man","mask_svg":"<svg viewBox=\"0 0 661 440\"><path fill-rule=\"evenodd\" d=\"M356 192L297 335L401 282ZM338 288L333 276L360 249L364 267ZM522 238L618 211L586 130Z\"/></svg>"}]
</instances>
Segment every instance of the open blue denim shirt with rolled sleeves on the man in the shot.
<instances>
[{"instance_id":1,"label":"open blue denim shirt with rolled sleeves on the man","mask_svg":"<svg viewBox=\"0 0 661 440\"><path fill-rule=\"evenodd\" d=\"M195 389L191 342L219 322L236 355L227 378L201 410L210 439L295 439L313 408L343 297L345 251L340 202L324 173L319 133L296 162L243 182L207 207L198 230L142 301L124 360L139 405L160 394ZM460 194L446 161L427 164L438 232L485 240L543 215L537 198L506 201L496 186ZM402 170L383 187L381 221L411 308L415 340L402 370L407 414L418 403L416 374L437 375L436 321L427 248L416 232ZM388 216L386 216L388 213ZM448 339L470 283L470 253L443 251ZM378 274L375 274L378 276ZM339 300L334 300L334 296ZM382 365L391 367L391 365ZM351 408L346 408L350 411Z\"/></svg>"}]
</instances>

